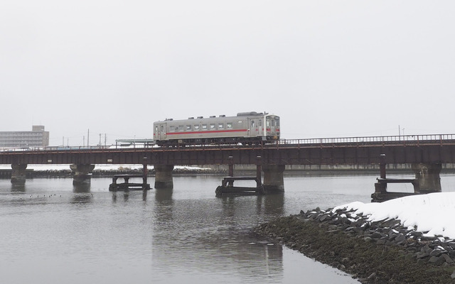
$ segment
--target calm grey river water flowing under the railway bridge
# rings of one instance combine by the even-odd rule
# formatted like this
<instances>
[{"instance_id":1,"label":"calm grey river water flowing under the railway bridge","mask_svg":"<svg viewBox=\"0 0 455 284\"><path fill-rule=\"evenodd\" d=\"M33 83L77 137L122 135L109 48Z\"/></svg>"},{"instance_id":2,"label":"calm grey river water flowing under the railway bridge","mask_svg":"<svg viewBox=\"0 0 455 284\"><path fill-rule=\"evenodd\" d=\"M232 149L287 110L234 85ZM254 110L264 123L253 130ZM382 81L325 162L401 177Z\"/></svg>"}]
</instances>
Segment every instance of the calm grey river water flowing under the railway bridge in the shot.
<instances>
[{"instance_id":1,"label":"calm grey river water flowing under the railway bridge","mask_svg":"<svg viewBox=\"0 0 455 284\"><path fill-rule=\"evenodd\" d=\"M109 178L0 180L1 282L358 283L250 232L301 209L370 202L375 178L286 176L282 195L237 197L215 197L220 175L174 176L173 190L146 194L109 192ZM455 175L441 183L455 191Z\"/></svg>"}]
</instances>

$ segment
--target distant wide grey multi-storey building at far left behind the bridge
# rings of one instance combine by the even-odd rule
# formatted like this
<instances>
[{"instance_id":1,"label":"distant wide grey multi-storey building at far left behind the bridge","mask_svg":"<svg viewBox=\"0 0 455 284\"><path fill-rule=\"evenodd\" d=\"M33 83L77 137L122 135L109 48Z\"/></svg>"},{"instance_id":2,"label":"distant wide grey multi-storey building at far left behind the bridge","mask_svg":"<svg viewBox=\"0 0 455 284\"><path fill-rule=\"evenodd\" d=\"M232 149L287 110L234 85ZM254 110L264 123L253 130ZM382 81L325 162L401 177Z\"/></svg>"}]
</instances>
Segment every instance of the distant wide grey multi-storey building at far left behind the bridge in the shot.
<instances>
[{"instance_id":1,"label":"distant wide grey multi-storey building at far left behind the bridge","mask_svg":"<svg viewBox=\"0 0 455 284\"><path fill-rule=\"evenodd\" d=\"M0 131L0 148L28 148L49 146L49 131L34 125L31 131Z\"/></svg>"}]
</instances>

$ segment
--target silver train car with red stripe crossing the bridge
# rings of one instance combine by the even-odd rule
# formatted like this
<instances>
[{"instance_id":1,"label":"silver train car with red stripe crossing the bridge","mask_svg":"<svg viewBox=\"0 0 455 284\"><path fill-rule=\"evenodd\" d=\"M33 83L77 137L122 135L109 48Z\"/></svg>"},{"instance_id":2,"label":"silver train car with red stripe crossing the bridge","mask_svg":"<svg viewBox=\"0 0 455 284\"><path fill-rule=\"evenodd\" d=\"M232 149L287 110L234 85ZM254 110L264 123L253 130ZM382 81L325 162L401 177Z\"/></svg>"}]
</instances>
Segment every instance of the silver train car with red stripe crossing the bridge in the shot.
<instances>
[{"instance_id":1,"label":"silver train car with red stripe crossing the bridge","mask_svg":"<svg viewBox=\"0 0 455 284\"><path fill-rule=\"evenodd\" d=\"M154 141L159 146L213 143L271 143L279 139L279 116L256 111L237 116L154 122Z\"/></svg>"}]
</instances>

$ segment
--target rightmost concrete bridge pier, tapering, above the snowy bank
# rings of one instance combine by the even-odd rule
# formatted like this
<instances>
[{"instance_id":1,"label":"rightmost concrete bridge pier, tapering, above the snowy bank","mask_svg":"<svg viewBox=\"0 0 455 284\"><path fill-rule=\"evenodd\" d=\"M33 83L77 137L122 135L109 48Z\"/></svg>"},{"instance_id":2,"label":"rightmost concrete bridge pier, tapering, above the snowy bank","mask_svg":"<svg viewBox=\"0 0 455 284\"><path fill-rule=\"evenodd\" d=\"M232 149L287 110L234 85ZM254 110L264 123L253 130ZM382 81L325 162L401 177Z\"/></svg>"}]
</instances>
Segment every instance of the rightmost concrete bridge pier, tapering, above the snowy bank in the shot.
<instances>
[{"instance_id":1,"label":"rightmost concrete bridge pier, tapering, above the snowy bank","mask_svg":"<svg viewBox=\"0 0 455 284\"><path fill-rule=\"evenodd\" d=\"M421 193L441 192L441 164L412 164L415 178L419 180Z\"/></svg>"}]
</instances>

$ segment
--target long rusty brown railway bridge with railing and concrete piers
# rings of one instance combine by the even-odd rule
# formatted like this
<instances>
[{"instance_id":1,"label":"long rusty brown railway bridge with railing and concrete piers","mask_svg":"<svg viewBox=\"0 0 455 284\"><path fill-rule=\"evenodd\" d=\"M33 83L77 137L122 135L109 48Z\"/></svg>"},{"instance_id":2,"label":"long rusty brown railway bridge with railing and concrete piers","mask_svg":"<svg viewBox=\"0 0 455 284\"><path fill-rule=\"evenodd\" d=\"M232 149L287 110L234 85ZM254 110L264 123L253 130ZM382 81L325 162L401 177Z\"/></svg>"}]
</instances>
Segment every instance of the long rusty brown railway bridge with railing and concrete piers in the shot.
<instances>
[{"instance_id":1,"label":"long rusty brown railway bridge with railing and concrete piers","mask_svg":"<svg viewBox=\"0 0 455 284\"><path fill-rule=\"evenodd\" d=\"M10 164L11 180L25 179L28 164L70 164L84 178L97 164L154 165L155 188L172 187L174 165L257 164L264 186L284 190L285 165L411 164L421 191L440 191L441 165L455 163L455 134L282 139L272 144L193 145L124 148L121 146L2 149L0 164ZM382 162L380 161L382 157ZM381 173L385 179L385 173Z\"/></svg>"}]
</instances>

